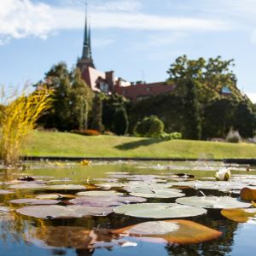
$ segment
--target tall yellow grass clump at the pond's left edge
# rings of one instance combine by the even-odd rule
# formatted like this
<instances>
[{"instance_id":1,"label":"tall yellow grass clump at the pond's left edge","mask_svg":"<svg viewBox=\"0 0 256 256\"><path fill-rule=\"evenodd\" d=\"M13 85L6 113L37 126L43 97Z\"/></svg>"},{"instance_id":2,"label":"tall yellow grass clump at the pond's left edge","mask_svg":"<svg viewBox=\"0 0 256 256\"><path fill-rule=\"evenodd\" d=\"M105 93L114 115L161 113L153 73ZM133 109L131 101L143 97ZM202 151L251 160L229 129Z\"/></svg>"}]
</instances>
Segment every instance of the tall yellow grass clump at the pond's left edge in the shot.
<instances>
[{"instance_id":1,"label":"tall yellow grass clump at the pond's left edge","mask_svg":"<svg viewBox=\"0 0 256 256\"><path fill-rule=\"evenodd\" d=\"M3 90L2 90L3 91ZM40 115L50 107L52 90L43 85L26 96L26 88L17 96L3 100L0 108L0 158L5 165L15 165L20 148L26 143Z\"/></svg>"}]
</instances>

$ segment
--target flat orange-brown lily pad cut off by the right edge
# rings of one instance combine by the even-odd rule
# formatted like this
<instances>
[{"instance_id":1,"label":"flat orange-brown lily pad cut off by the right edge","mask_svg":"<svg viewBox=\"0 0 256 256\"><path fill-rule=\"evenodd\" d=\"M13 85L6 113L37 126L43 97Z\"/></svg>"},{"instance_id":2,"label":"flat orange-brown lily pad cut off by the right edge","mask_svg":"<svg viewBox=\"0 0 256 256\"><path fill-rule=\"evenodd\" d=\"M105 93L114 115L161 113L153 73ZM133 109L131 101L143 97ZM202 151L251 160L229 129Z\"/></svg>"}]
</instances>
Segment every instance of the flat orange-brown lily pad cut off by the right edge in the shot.
<instances>
[{"instance_id":1,"label":"flat orange-brown lily pad cut off by the right edge","mask_svg":"<svg viewBox=\"0 0 256 256\"><path fill-rule=\"evenodd\" d=\"M229 218L236 222L252 222L255 224L256 220L256 208L236 208L236 209L223 209L221 214L225 218Z\"/></svg>"}]
</instances>

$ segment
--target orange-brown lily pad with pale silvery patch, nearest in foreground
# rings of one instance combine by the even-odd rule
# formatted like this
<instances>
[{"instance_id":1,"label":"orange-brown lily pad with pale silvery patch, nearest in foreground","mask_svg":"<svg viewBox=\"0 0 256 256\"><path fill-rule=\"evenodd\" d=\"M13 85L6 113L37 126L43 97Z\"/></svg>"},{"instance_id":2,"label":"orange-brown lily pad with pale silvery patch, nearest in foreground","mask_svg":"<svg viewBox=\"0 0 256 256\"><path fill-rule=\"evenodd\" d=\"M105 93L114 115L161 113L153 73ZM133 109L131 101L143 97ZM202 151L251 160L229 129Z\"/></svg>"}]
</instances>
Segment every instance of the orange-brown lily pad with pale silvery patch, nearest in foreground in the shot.
<instances>
[{"instance_id":1,"label":"orange-brown lily pad with pale silvery patch, nearest in foreground","mask_svg":"<svg viewBox=\"0 0 256 256\"><path fill-rule=\"evenodd\" d=\"M131 225L123 229L113 230L112 233L125 236L160 238L161 240L158 241L178 244L209 241L222 234L218 230L212 230L204 225L183 219L148 221L141 224Z\"/></svg>"}]
</instances>

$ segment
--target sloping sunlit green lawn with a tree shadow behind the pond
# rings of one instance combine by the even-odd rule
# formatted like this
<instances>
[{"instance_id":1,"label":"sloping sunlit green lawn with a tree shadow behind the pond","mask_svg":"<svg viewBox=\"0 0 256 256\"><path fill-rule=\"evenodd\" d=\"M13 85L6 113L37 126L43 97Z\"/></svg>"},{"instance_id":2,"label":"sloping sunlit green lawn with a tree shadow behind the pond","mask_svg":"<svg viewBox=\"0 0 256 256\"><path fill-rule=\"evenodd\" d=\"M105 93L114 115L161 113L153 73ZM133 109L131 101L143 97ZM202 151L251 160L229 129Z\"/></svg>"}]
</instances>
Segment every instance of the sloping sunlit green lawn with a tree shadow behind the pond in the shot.
<instances>
[{"instance_id":1,"label":"sloping sunlit green lawn with a tree shadow behind the pond","mask_svg":"<svg viewBox=\"0 0 256 256\"><path fill-rule=\"evenodd\" d=\"M256 145L151 138L86 137L64 132L34 131L23 154L28 156L255 158Z\"/></svg>"}]
</instances>

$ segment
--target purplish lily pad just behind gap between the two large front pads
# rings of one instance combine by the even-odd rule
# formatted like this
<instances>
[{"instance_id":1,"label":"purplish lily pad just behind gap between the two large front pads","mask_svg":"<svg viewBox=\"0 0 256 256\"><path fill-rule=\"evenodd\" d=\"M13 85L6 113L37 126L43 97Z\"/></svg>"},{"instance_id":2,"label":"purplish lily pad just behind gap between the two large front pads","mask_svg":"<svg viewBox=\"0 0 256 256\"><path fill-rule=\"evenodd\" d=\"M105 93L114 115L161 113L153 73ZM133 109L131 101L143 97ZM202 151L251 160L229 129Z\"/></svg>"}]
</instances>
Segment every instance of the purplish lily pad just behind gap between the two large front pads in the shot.
<instances>
[{"instance_id":1,"label":"purplish lily pad just behind gap between the two large front pads","mask_svg":"<svg viewBox=\"0 0 256 256\"><path fill-rule=\"evenodd\" d=\"M146 201L145 198L136 197L136 196L120 196L120 195L111 195L111 196L81 196L73 200L68 201L74 205L79 206L93 206L93 207L111 207L119 206L129 203L138 203Z\"/></svg>"}]
</instances>

